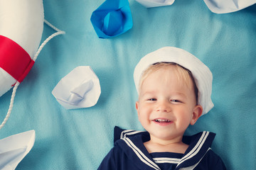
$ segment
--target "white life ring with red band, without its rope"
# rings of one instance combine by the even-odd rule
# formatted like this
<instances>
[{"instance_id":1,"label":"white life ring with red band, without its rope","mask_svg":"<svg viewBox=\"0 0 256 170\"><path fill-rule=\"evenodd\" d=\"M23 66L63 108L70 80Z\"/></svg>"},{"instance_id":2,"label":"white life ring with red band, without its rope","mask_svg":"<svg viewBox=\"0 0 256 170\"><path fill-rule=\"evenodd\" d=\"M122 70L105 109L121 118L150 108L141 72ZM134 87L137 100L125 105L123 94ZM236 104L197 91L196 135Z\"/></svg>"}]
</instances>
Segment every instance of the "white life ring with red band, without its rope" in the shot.
<instances>
[{"instance_id":1,"label":"white life ring with red band, without its rope","mask_svg":"<svg viewBox=\"0 0 256 170\"><path fill-rule=\"evenodd\" d=\"M42 0L0 0L0 96L33 66L43 20Z\"/></svg>"}]
</instances>

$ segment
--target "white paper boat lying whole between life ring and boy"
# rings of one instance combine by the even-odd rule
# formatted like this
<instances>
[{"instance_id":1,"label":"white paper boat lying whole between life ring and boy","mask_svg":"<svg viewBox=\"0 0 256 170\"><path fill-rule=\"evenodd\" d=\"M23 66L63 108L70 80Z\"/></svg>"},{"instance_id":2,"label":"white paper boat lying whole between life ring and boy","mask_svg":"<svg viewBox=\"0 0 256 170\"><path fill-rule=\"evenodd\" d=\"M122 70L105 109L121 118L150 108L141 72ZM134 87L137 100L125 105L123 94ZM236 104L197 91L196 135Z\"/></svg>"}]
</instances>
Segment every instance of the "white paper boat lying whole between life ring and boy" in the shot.
<instances>
[{"instance_id":1,"label":"white paper boat lying whole between life ring and boy","mask_svg":"<svg viewBox=\"0 0 256 170\"><path fill-rule=\"evenodd\" d=\"M95 106L100 93L100 81L90 66L76 67L52 91L58 103L66 109Z\"/></svg>"}]
</instances>

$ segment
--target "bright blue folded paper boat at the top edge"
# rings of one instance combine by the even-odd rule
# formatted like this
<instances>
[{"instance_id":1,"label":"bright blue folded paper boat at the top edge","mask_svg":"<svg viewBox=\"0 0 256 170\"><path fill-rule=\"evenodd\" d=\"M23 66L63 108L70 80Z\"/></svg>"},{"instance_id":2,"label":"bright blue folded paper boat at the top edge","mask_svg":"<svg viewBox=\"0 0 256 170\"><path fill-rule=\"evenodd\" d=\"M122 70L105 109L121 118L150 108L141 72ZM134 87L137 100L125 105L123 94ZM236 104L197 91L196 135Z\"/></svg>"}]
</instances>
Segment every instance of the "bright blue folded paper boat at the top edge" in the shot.
<instances>
[{"instance_id":1,"label":"bright blue folded paper boat at the top edge","mask_svg":"<svg viewBox=\"0 0 256 170\"><path fill-rule=\"evenodd\" d=\"M128 0L106 0L92 12L92 26L99 38L111 38L132 28Z\"/></svg>"}]
</instances>

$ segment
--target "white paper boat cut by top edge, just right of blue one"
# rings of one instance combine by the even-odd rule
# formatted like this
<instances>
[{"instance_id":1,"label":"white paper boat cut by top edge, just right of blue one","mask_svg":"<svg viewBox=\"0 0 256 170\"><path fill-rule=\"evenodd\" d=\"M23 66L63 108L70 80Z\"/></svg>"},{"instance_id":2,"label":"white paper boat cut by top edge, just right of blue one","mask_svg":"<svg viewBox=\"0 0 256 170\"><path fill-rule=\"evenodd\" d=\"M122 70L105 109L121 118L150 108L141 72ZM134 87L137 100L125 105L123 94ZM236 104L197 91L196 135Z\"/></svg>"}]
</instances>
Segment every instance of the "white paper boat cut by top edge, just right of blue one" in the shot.
<instances>
[{"instance_id":1,"label":"white paper boat cut by top edge, just right of blue one","mask_svg":"<svg viewBox=\"0 0 256 170\"><path fill-rule=\"evenodd\" d=\"M174 4L175 0L136 0L139 4L142 4L146 8L158 7L158 6L169 6Z\"/></svg>"}]
</instances>

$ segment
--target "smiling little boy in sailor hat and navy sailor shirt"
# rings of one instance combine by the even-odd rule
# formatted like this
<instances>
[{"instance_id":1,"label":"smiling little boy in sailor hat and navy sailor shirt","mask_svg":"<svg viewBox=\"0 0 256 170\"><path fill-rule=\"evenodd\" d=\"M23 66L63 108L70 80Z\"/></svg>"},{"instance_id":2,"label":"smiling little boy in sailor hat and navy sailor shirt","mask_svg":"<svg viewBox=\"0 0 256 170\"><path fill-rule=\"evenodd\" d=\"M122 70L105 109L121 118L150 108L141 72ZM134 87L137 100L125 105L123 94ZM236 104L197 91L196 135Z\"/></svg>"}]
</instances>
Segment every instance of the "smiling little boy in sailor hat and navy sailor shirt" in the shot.
<instances>
[{"instance_id":1,"label":"smiling little boy in sailor hat and navy sailor shirt","mask_svg":"<svg viewBox=\"0 0 256 170\"><path fill-rule=\"evenodd\" d=\"M176 47L143 57L134 70L134 83L146 132L116 127L114 147L99 169L225 169L210 149L215 134L183 136L188 125L213 108L212 79L203 62Z\"/></svg>"}]
</instances>

